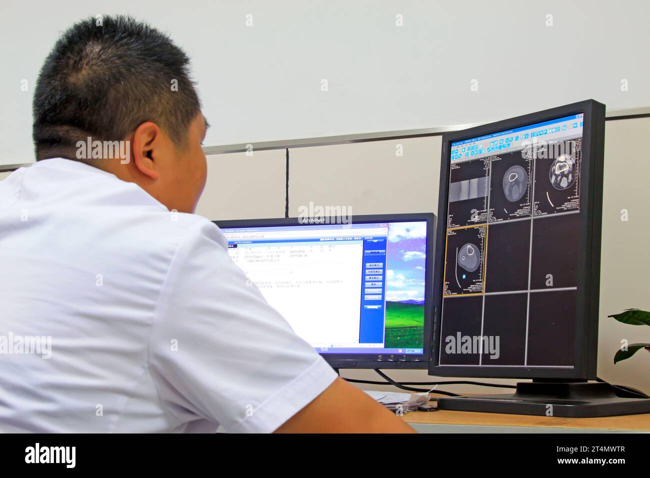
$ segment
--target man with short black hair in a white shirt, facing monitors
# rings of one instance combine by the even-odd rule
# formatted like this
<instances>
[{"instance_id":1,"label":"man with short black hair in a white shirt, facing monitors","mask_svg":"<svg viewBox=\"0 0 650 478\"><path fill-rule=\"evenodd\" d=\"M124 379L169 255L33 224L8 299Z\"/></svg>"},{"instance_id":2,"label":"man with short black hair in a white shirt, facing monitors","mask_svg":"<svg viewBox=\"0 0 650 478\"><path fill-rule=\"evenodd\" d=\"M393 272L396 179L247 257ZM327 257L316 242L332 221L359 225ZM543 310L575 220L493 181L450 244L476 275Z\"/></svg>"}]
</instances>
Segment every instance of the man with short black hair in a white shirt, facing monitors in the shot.
<instances>
[{"instance_id":1,"label":"man with short black hair in a white shirt, facing monitors","mask_svg":"<svg viewBox=\"0 0 650 478\"><path fill-rule=\"evenodd\" d=\"M168 36L80 21L33 110L38 162L0 182L0 431L413 432L338 378L193 214L207 122Z\"/></svg>"}]
</instances>

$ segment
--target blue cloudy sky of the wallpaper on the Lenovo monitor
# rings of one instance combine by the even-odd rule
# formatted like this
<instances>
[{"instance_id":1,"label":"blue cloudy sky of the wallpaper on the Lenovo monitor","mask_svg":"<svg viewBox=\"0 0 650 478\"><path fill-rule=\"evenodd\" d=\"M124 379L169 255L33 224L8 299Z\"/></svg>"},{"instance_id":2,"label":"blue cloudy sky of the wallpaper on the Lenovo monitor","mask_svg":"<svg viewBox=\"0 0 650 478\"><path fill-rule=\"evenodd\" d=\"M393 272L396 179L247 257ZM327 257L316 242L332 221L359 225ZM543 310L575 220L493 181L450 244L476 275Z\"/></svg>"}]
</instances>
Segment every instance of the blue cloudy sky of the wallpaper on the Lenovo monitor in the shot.
<instances>
[{"instance_id":1,"label":"blue cloudy sky of the wallpaper on the Lenovo monitor","mask_svg":"<svg viewBox=\"0 0 650 478\"><path fill-rule=\"evenodd\" d=\"M386 299L424 300L426 222L393 222L388 228Z\"/></svg>"}]
</instances>

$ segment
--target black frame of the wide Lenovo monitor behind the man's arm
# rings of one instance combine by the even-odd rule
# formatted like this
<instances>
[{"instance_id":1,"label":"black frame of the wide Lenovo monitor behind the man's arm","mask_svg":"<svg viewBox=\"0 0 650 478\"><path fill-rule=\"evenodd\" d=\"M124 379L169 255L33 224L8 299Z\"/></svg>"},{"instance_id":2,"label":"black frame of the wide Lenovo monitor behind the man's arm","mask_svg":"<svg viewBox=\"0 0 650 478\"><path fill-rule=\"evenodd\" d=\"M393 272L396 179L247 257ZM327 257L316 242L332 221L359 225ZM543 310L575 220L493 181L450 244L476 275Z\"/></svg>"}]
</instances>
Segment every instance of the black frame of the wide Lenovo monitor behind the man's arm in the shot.
<instances>
[{"instance_id":1,"label":"black frame of the wide Lenovo monitor behind the man's arm","mask_svg":"<svg viewBox=\"0 0 650 478\"><path fill-rule=\"evenodd\" d=\"M352 224L370 222L426 222L426 258L424 259L424 343L423 354L376 355L376 354L321 354L335 369L426 369L431 352L434 271L434 234L435 215L433 213L353 215ZM245 228L252 226L313 226L318 224L340 224L340 218L280 218L280 219L243 219L215 220L219 228Z\"/></svg>"}]
</instances>

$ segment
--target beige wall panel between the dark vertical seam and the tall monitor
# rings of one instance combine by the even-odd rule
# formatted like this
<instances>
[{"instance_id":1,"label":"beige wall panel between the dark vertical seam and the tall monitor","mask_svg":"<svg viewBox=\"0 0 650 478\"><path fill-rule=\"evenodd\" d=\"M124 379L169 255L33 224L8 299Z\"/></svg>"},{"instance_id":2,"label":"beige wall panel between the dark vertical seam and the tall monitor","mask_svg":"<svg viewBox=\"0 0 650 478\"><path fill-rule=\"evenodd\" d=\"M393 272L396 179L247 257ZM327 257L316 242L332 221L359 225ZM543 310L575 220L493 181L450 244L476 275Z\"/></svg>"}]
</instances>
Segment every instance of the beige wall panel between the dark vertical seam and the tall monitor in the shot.
<instances>
[{"instance_id":1,"label":"beige wall panel between the dark vertical seam and the tall monitor","mask_svg":"<svg viewBox=\"0 0 650 478\"><path fill-rule=\"evenodd\" d=\"M353 214L437 212L440 145L436 136L289 150L289 215L309 202Z\"/></svg>"}]
</instances>

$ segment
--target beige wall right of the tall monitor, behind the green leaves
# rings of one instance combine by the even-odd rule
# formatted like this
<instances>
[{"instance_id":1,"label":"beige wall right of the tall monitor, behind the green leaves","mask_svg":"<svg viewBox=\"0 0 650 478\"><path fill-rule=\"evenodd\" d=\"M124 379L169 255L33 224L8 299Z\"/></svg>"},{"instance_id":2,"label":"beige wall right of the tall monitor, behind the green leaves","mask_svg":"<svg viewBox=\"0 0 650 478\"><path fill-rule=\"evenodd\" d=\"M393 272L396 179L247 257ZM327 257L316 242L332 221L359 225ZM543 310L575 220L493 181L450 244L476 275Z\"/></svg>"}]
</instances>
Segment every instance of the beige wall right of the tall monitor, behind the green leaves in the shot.
<instances>
[{"instance_id":1,"label":"beige wall right of the tall monitor, behind the green leaves","mask_svg":"<svg viewBox=\"0 0 650 478\"><path fill-rule=\"evenodd\" d=\"M607 315L650 310L650 118L606 122L603 245L598 373L604 380L650 392L650 354L639 351L614 365L621 339L650 343L650 327L618 323ZM627 209L629 220L621 220Z\"/></svg>"}]
</instances>

